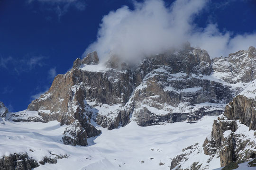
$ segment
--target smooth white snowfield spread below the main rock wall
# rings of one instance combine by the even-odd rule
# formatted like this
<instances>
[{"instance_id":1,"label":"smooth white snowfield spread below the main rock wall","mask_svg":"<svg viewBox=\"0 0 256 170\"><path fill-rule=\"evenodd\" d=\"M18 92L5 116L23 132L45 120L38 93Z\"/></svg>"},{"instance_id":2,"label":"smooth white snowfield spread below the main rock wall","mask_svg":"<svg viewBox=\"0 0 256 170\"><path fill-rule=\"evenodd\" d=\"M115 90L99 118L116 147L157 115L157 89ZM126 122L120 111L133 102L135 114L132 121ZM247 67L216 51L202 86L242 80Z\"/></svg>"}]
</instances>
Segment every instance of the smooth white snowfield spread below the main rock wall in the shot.
<instances>
[{"instance_id":1,"label":"smooth white snowfield spread below the main rock wall","mask_svg":"<svg viewBox=\"0 0 256 170\"><path fill-rule=\"evenodd\" d=\"M64 145L66 127L57 121L14 122L0 124L0 155L27 152L40 161L50 153L67 155L57 164L40 165L36 170L169 170L171 159L194 143L202 144L217 116L205 116L198 123L140 127L131 121L118 129L102 130L89 138L89 146ZM212 168L219 167L219 159ZM159 163L163 165L159 165Z\"/></svg>"}]
</instances>

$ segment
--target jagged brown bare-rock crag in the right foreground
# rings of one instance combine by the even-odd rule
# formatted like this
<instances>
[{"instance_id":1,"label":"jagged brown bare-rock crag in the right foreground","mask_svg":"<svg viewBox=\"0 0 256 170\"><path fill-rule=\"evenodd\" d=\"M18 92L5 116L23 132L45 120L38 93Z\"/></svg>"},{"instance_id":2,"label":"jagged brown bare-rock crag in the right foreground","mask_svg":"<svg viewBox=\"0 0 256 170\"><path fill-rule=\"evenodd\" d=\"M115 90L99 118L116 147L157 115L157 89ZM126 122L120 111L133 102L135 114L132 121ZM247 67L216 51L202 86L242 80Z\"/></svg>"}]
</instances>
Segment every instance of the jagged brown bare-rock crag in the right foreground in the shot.
<instances>
[{"instance_id":1,"label":"jagged brown bare-rock crag in the right foreground","mask_svg":"<svg viewBox=\"0 0 256 170\"><path fill-rule=\"evenodd\" d=\"M222 167L230 162L249 161L256 157L255 107L255 99L238 95L226 106L224 118L214 121L211 138L205 140L203 147L206 154L214 154L209 150L215 146ZM248 127L250 135L240 131L242 126Z\"/></svg>"}]
</instances>

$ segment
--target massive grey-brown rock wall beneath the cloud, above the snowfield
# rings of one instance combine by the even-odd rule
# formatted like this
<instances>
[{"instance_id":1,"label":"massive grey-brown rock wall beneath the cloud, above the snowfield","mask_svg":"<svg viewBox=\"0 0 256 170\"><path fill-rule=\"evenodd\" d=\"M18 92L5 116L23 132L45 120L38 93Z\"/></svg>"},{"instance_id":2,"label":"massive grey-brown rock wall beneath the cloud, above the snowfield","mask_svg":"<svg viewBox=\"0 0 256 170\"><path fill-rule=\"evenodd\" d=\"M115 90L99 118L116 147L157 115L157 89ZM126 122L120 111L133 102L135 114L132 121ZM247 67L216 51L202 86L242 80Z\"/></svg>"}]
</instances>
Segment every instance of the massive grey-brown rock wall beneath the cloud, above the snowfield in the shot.
<instances>
[{"instance_id":1,"label":"massive grey-brown rock wall beneath the cloud, above the snowfield","mask_svg":"<svg viewBox=\"0 0 256 170\"><path fill-rule=\"evenodd\" d=\"M227 71L223 63L237 59L233 67L254 70L254 65L246 64L247 59L242 62L244 57L254 60L255 48L231 54L223 62L223 58L210 60L207 51L187 45L149 56L137 66L128 66L115 56L99 63L94 51L82 60L76 59L66 74L57 75L49 91L27 109L38 111L45 122L57 120L61 125L71 125L78 120L87 137L101 133L91 121L113 129L130 120L150 126L220 115L253 78L230 68L230 74L240 82L240 86L235 85L222 76Z\"/></svg>"}]
</instances>

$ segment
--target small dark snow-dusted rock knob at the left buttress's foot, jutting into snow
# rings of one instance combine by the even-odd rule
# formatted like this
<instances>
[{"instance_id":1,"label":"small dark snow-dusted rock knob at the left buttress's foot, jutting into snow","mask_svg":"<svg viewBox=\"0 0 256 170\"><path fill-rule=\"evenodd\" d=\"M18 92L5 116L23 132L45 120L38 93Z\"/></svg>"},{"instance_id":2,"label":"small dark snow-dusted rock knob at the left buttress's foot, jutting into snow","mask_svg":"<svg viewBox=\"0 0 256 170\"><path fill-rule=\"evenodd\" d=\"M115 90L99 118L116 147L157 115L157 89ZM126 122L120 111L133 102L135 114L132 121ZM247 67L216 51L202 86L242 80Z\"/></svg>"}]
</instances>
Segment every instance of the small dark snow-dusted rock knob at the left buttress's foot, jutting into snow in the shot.
<instances>
[{"instance_id":1,"label":"small dark snow-dusted rock knob at the left buttress's foot, jutting into snow","mask_svg":"<svg viewBox=\"0 0 256 170\"><path fill-rule=\"evenodd\" d=\"M87 146L87 134L78 120L66 127L62 137L64 144Z\"/></svg>"}]
</instances>

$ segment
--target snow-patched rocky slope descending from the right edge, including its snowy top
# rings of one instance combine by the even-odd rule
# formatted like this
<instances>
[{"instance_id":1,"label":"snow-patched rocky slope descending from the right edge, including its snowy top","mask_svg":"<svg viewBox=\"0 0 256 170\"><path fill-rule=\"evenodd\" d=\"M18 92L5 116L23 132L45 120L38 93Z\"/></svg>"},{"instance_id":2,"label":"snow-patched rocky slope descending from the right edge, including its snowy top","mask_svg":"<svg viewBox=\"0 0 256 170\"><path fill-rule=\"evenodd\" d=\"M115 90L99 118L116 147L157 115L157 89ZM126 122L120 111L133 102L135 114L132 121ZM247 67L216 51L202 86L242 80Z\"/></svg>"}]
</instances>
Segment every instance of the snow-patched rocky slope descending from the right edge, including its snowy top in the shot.
<instances>
[{"instance_id":1,"label":"snow-patched rocky slope descending from the right edge, including its snowy top","mask_svg":"<svg viewBox=\"0 0 256 170\"><path fill-rule=\"evenodd\" d=\"M232 162L240 163L256 158L255 108L256 80L227 104L224 115L214 120L210 136L205 139L202 146L197 147L208 156L208 163L211 163L214 157L219 157L220 166L224 167ZM171 169L182 162L190 161L190 154L194 153L183 152L175 157ZM203 164L203 168L207 169L207 164Z\"/></svg>"}]
</instances>

